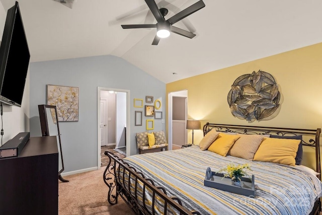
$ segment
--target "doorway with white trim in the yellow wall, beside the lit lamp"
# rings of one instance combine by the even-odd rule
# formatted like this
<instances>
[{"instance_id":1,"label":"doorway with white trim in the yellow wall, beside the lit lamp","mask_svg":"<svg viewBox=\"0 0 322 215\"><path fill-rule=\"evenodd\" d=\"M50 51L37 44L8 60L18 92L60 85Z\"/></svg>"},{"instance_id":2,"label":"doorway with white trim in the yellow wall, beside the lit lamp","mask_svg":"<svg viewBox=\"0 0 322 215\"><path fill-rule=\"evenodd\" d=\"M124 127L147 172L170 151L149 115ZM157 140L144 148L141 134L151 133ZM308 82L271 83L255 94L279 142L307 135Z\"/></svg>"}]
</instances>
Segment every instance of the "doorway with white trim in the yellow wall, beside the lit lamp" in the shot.
<instances>
[{"instance_id":1,"label":"doorway with white trim in the yellow wall, beside the lit lamp","mask_svg":"<svg viewBox=\"0 0 322 215\"><path fill-rule=\"evenodd\" d=\"M176 100L179 98L180 110L176 109L174 110L174 99ZM184 101L184 102L182 102ZM178 149L178 146L180 148L180 145L187 144L187 129L186 129L186 123L187 123L187 102L188 102L188 91L177 91L177 92L171 92L168 95L168 142L169 142L169 150L175 150ZM175 101L176 103L176 101ZM177 105L176 105L177 106ZM183 112L184 116L180 116L180 120L177 120L174 118L174 112ZM175 134L175 135L174 135ZM180 134L180 137L176 136L177 134ZM176 139L183 139L183 142L177 143L175 142ZM178 145L179 144L179 145Z\"/></svg>"}]
</instances>

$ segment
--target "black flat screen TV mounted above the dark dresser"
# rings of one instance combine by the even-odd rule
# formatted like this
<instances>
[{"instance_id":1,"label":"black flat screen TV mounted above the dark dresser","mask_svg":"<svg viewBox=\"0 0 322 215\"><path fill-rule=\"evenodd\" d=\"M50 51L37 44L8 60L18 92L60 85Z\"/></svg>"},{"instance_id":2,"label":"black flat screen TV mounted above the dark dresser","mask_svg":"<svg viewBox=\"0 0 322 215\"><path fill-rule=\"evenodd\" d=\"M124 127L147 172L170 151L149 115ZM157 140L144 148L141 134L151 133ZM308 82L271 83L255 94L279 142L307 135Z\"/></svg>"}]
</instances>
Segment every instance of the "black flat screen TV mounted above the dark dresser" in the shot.
<instances>
[{"instance_id":1,"label":"black flat screen TV mounted above the dark dresser","mask_svg":"<svg viewBox=\"0 0 322 215\"><path fill-rule=\"evenodd\" d=\"M30 53L19 4L7 13L0 46L0 102L21 107Z\"/></svg>"}]
</instances>

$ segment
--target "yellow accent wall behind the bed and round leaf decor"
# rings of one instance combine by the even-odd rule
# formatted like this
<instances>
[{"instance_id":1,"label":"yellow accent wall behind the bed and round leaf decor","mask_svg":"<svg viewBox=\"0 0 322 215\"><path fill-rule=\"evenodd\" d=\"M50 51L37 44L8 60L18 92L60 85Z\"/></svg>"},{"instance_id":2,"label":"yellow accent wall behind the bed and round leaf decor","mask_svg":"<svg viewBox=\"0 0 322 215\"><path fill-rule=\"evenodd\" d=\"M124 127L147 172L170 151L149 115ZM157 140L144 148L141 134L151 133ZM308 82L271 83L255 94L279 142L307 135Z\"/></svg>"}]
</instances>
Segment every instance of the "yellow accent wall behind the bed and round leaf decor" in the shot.
<instances>
[{"instance_id":1,"label":"yellow accent wall behind the bed and round leaf decor","mask_svg":"<svg viewBox=\"0 0 322 215\"><path fill-rule=\"evenodd\" d=\"M271 120L249 123L231 114L227 94L236 78L258 70L275 78L281 93L281 108ZM210 122L315 129L322 127L321 80L322 43L317 43L172 82L167 84L166 91L169 94L188 90L188 118L199 119L202 125ZM188 142L191 136L189 132ZM194 130L195 144L202 137L202 130Z\"/></svg>"}]
</instances>

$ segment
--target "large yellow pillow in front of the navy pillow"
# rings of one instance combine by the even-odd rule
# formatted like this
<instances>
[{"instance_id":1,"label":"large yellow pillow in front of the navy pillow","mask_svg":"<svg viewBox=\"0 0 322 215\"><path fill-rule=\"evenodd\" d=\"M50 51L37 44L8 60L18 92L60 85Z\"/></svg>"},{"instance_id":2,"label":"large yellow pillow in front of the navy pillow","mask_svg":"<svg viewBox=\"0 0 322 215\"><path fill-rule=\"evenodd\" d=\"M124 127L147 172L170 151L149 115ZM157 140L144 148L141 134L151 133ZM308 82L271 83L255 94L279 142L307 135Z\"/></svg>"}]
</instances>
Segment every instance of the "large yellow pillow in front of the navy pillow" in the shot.
<instances>
[{"instance_id":1,"label":"large yellow pillow in front of the navy pillow","mask_svg":"<svg viewBox=\"0 0 322 215\"><path fill-rule=\"evenodd\" d=\"M295 157L300 139L264 137L253 161L273 162L295 166Z\"/></svg>"}]
</instances>

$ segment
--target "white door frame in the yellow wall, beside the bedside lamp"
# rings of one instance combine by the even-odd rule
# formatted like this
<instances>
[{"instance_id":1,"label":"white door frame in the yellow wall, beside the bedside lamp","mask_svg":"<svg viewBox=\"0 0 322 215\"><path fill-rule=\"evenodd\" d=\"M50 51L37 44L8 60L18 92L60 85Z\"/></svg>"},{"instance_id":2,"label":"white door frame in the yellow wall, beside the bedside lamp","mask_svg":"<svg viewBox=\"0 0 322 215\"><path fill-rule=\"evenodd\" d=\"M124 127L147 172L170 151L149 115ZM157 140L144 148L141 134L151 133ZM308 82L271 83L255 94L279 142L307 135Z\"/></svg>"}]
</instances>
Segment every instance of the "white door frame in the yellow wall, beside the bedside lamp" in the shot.
<instances>
[{"instance_id":1,"label":"white door frame in the yellow wall, beside the bedside lamp","mask_svg":"<svg viewBox=\"0 0 322 215\"><path fill-rule=\"evenodd\" d=\"M172 133L173 133L173 128L172 128L172 107L173 107L173 102L172 99L173 97L186 97L186 123L187 123L187 118L188 118L188 90L182 90L182 91L176 91L176 92L170 92L168 94L168 148L169 150L172 150ZM186 129L186 139L187 139L187 129Z\"/></svg>"}]
</instances>

